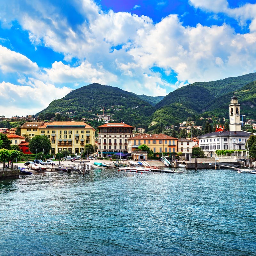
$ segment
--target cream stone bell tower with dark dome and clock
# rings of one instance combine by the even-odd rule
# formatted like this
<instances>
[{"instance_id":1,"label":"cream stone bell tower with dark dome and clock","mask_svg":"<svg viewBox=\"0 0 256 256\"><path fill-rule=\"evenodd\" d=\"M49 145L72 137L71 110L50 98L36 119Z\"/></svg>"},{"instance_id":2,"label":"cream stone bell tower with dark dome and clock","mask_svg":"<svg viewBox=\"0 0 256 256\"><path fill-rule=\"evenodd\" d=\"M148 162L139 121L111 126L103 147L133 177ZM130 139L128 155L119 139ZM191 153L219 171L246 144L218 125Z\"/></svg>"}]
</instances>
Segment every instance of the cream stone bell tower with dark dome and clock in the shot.
<instances>
[{"instance_id":1,"label":"cream stone bell tower with dark dome and clock","mask_svg":"<svg viewBox=\"0 0 256 256\"><path fill-rule=\"evenodd\" d=\"M241 131L240 122L240 104L238 104L237 97L234 96L230 99L229 106L229 130L234 132Z\"/></svg>"}]
</instances>

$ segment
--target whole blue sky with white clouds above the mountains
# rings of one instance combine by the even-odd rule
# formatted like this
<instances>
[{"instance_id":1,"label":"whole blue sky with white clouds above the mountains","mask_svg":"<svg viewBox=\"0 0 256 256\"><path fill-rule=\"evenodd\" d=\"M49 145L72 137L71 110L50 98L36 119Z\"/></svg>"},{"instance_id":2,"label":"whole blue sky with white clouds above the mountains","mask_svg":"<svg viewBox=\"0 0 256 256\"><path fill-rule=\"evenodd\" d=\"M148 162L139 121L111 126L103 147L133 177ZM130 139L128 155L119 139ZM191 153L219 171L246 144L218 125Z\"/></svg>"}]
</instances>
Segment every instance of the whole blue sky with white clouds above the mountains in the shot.
<instances>
[{"instance_id":1,"label":"whole blue sky with white clouds above the mountains","mask_svg":"<svg viewBox=\"0 0 256 256\"><path fill-rule=\"evenodd\" d=\"M7 117L35 114L94 82L159 96L256 71L255 0L0 3Z\"/></svg>"}]
</instances>

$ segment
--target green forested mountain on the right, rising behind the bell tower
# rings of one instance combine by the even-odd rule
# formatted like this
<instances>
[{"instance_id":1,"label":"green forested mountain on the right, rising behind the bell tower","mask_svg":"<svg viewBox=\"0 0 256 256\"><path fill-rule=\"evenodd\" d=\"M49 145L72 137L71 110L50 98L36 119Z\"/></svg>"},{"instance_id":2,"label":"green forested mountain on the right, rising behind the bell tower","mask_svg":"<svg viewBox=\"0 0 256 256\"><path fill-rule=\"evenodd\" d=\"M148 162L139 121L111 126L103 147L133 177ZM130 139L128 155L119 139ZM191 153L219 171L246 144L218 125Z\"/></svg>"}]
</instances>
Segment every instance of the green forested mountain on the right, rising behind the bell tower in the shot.
<instances>
[{"instance_id":1,"label":"green forested mountain on the right, rising behind the bell tower","mask_svg":"<svg viewBox=\"0 0 256 256\"><path fill-rule=\"evenodd\" d=\"M209 112L210 116L217 114L228 118L228 105L233 92L237 92L236 96L241 104L241 111L246 115L254 116L252 114L252 106L254 105L251 100L253 96L245 95L242 92L248 90L248 87L253 87L253 81L255 80L256 73L251 73L218 81L198 82L183 86L170 92L156 104L157 112L151 116L150 120L158 123L161 120L163 124L173 124L177 119L185 120L205 111ZM248 91L248 93L253 94L252 91L250 93Z\"/></svg>"}]
</instances>

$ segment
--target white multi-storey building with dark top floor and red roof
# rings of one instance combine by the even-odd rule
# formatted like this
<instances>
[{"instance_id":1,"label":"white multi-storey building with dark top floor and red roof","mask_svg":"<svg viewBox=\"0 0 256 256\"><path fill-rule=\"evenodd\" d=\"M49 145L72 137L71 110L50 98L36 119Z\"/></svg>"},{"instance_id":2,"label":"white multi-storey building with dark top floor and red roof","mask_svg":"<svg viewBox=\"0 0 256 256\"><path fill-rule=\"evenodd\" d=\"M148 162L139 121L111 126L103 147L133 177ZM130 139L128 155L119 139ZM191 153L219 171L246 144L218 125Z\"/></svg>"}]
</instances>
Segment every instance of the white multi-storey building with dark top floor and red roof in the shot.
<instances>
[{"instance_id":1,"label":"white multi-storey building with dark top floor and red roof","mask_svg":"<svg viewBox=\"0 0 256 256\"><path fill-rule=\"evenodd\" d=\"M134 126L124 123L108 123L97 127L99 129L98 154L108 157L115 153L128 153L127 140L132 137Z\"/></svg>"}]
</instances>

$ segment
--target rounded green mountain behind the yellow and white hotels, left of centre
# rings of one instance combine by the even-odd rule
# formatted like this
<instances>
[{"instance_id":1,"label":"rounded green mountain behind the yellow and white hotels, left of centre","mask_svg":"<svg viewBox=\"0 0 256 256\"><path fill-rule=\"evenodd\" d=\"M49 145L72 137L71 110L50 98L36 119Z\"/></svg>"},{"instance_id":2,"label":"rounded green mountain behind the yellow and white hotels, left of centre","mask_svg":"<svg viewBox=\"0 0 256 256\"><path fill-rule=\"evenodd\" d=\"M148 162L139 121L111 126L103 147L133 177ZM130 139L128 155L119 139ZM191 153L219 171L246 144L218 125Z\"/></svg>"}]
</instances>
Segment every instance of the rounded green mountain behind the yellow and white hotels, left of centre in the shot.
<instances>
[{"instance_id":1,"label":"rounded green mountain behind the yellow and white hotels, left of centre","mask_svg":"<svg viewBox=\"0 0 256 256\"><path fill-rule=\"evenodd\" d=\"M90 84L71 91L64 98L53 100L47 108L37 113L72 112L77 119L93 117L104 113L112 115L113 119L130 125L148 124L148 118L156 110L136 94L126 92L117 87ZM90 112L88 112L90 111Z\"/></svg>"}]
</instances>

